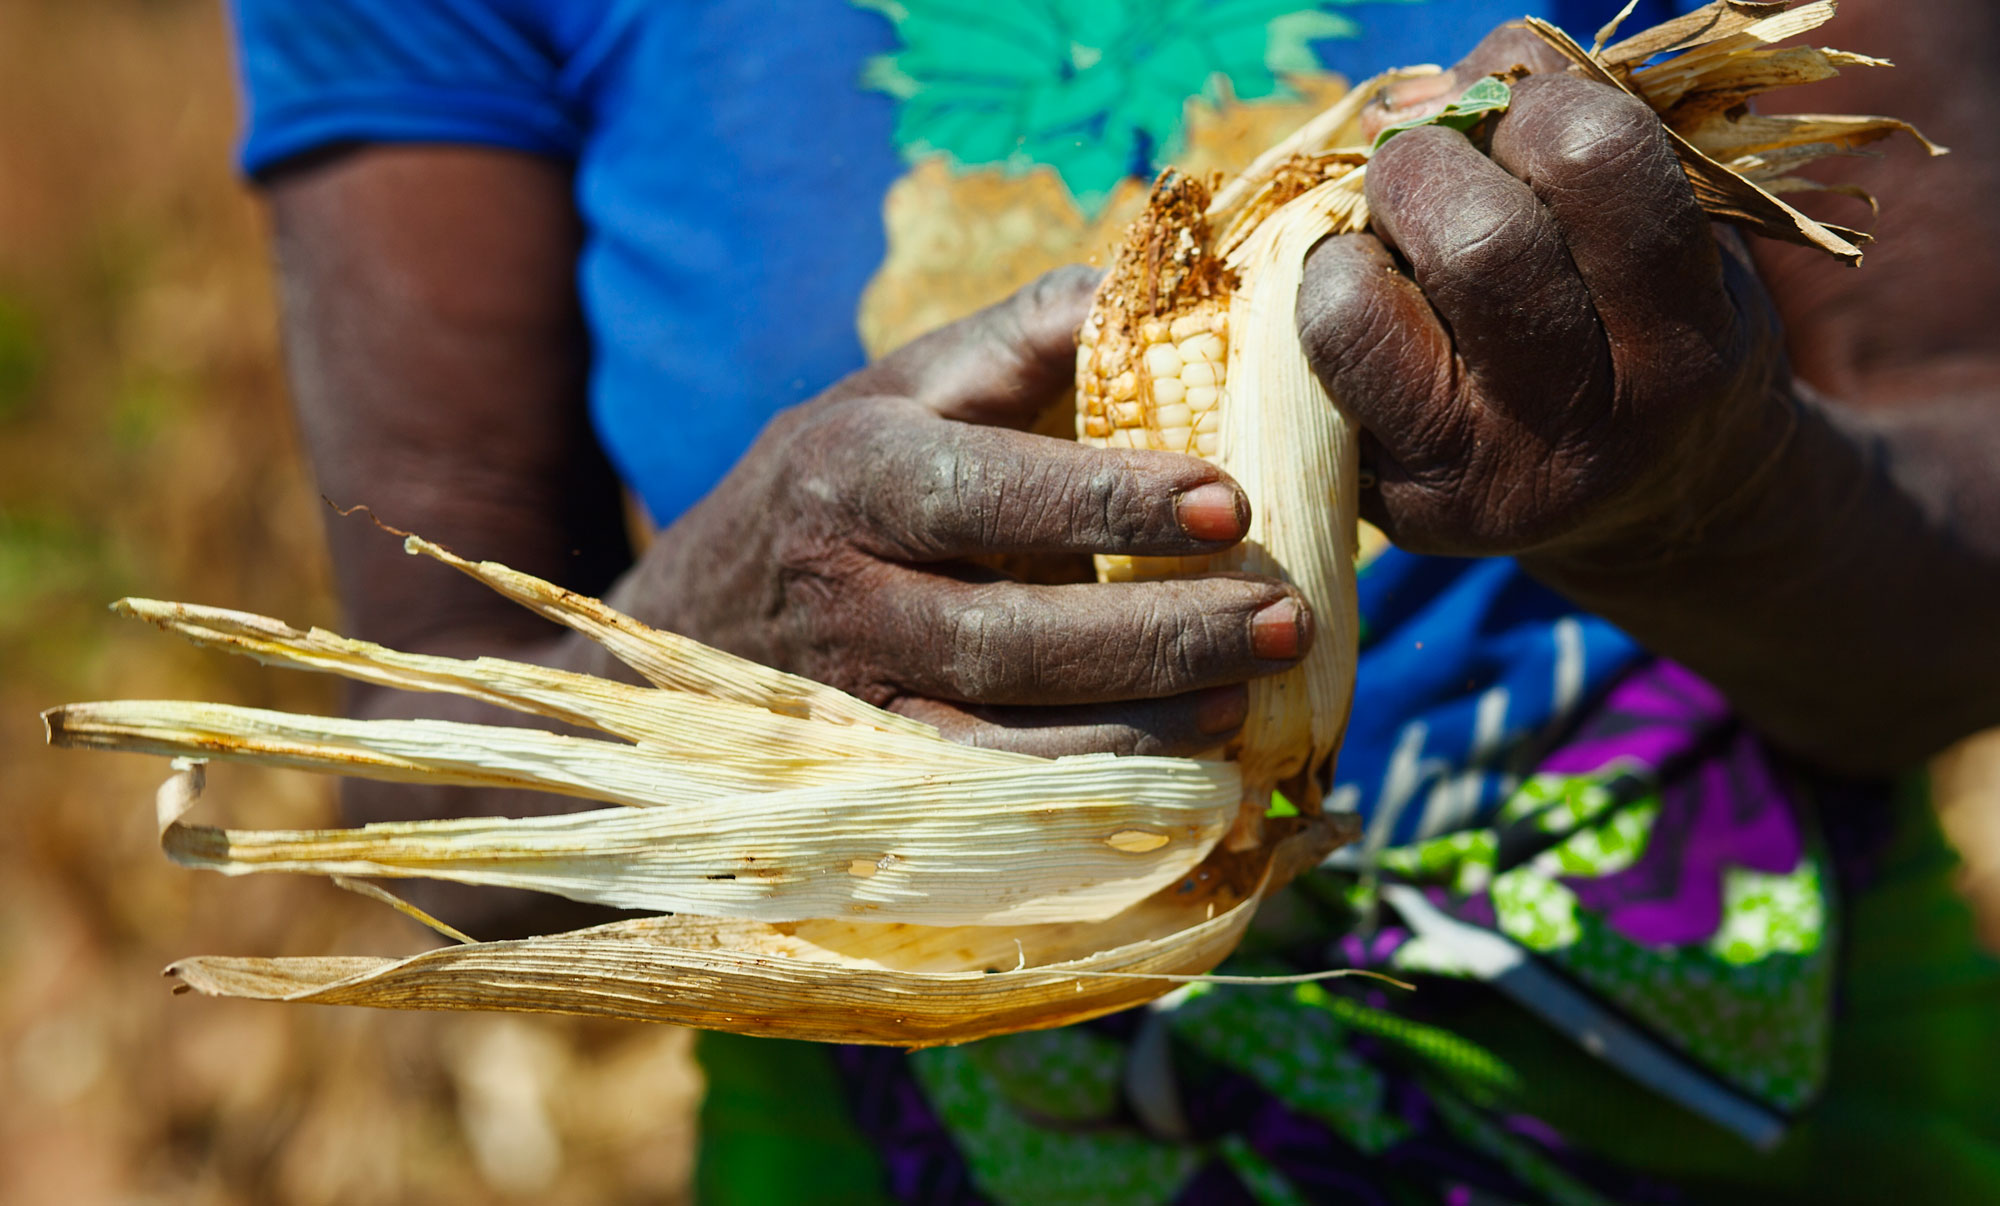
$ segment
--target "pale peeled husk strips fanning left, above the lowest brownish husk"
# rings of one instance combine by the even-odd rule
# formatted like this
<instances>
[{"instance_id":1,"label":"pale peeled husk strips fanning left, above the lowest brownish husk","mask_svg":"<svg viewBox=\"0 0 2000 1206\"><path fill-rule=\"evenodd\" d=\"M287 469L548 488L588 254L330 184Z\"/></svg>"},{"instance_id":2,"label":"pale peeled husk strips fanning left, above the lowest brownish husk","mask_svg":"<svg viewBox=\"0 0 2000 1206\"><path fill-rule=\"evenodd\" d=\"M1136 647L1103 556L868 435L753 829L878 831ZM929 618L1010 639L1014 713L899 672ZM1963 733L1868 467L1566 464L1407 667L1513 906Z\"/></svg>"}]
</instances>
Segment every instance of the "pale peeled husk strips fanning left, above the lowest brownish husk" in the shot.
<instances>
[{"instance_id":1,"label":"pale peeled husk strips fanning left, above the lowest brownish husk","mask_svg":"<svg viewBox=\"0 0 2000 1206\"><path fill-rule=\"evenodd\" d=\"M410 548L450 556L416 540ZM624 636L614 652L654 648L652 630L602 604L580 612L548 582L470 572L552 614L588 612L586 632ZM44 716L62 746L534 788L620 806L360 830L232 832L178 818L164 828L170 858L224 874L426 876L768 922L1102 920L1190 872L1240 796L1238 772L1224 762L1028 758L954 746L906 722L876 730L496 658L398 654L216 608L126 600L118 610L266 662L450 690L626 738L146 700ZM610 628L606 616L616 618ZM728 678L740 662L702 646L680 652L700 670L686 682ZM772 682L768 694L788 702L826 690Z\"/></svg>"}]
</instances>

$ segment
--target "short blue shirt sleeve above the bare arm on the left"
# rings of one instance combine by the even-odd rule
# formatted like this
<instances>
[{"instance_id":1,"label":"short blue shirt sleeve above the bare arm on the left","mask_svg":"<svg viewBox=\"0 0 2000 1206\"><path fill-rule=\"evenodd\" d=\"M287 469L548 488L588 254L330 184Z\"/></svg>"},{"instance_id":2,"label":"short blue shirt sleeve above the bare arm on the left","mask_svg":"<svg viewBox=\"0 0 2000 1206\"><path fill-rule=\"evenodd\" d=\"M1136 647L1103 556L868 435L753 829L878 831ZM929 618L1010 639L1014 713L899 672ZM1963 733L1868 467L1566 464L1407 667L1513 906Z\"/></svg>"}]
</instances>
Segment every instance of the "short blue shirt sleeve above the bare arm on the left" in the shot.
<instances>
[{"instance_id":1,"label":"short blue shirt sleeve above the bare arm on the left","mask_svg":"<svg viewBox=\"0 0 2000 1206\"><path fill-rule=\"evenodd\" d=\"M532 4L232 0L230 16L248 174L344 142L576 156L578 106Z\"/></svg>"}]
</instances>

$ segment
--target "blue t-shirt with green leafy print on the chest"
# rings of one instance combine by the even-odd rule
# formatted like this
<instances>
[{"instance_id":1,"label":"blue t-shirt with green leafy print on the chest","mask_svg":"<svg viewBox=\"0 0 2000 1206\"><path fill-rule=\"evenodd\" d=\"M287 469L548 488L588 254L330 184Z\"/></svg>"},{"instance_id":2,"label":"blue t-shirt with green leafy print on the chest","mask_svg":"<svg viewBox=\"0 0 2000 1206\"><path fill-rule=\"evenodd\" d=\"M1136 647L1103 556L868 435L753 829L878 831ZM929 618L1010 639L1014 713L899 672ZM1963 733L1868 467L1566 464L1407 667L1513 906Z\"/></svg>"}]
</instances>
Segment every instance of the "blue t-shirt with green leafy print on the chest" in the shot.
<instances>
[{"instance_id":1,"label":"blue t-shirt with green leafy print on the chest","mask_svg":"<svg viewBox=\"0 0 2000 1206\"><path fill-rule=\"evenodd\" d=\"M1052 174L1058 218L1086 226L1186 148L1190 98L1256 106L1316 72L1452 62L1524 10L1588 42L1618 8L234 0L242 162L254 174L344 142L450 142L574 164L592 420L668 522L766 418L864 362L856 310L898 250L884 204L926 164L1000 184ZM1628 28L1664 14L1648 0ZM1376 816L1378 840L1490 810L1636 654L1512 562L1392 552L1364 574L1362 608L1336 798Z\"/></svg>"}]
</instances>

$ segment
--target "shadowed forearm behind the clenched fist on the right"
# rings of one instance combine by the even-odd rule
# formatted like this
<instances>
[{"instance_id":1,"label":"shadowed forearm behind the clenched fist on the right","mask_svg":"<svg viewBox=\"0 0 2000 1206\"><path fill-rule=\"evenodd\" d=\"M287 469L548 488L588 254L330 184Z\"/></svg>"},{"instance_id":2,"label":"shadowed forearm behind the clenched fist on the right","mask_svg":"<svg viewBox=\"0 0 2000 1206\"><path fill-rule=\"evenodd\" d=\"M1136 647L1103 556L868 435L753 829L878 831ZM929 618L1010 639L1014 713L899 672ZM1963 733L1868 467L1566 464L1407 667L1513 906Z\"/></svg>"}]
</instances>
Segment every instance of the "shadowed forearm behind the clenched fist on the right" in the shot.
<instances>
[{"instance_id":1,"label":"shadowed forearm behind the clenched fist on the right","mask_svg":"<svg viewBox=\"0 0 2000 1206\"><path fill-rule=\"evenodd\" d=\"M1522 564L1826 768L2000 724L2000 388L1790 414L1694 530Z\"/></svg>"}]
</instances>

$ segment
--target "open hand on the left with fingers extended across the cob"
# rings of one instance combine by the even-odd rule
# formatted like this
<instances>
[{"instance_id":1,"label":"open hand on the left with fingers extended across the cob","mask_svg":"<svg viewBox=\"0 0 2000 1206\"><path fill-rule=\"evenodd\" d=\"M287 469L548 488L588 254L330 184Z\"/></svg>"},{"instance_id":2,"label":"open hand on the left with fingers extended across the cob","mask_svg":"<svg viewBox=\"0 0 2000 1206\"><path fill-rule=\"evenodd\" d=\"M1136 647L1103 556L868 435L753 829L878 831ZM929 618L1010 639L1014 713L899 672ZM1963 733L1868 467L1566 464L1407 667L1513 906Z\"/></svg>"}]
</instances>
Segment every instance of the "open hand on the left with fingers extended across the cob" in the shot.
<instances>
[{"instance_id":1,"label":"open hand on the left with fingers extended across the cob","mask_svg":"<svg viewBox=\"0 0 2000 1206\"><path fill-rule=\"evenodd\" d=\"M972 558L1194 556L1250 518L1214 466L1024 430L1074 372L1094 274L1060 270L780 414L616 602L720 648L1034 754L1190 754L1312 638L1258 578L1036 586Z\"/></svg>"}]
</instances>

